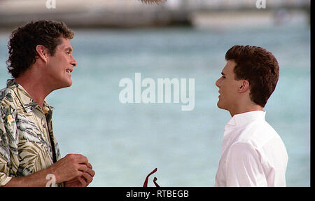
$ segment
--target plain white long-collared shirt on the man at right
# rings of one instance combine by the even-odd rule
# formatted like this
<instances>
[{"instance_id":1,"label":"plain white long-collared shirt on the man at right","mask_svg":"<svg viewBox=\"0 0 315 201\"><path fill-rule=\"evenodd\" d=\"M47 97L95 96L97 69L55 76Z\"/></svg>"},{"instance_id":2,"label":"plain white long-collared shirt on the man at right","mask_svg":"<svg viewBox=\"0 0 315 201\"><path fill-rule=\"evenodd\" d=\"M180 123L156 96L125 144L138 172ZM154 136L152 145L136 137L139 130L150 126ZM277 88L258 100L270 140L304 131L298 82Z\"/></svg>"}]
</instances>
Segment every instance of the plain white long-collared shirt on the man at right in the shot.
<instances>
[{"instance_id":1,"label":"plain white long-collared shirt on the man at right","mask_svg":"<svg viewBox=\"0 0 315 201\"><path fill-rule=\"evenodd\" d=\"M215 186L286 186L288 154L265 111L239 113L225 125Z\"/></svg>"}]
</instances>

